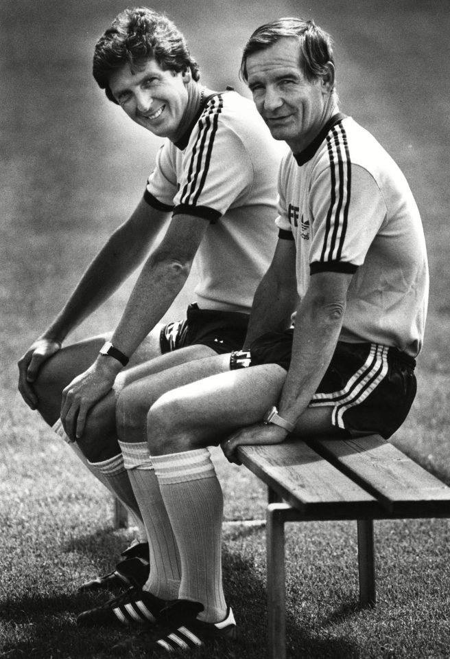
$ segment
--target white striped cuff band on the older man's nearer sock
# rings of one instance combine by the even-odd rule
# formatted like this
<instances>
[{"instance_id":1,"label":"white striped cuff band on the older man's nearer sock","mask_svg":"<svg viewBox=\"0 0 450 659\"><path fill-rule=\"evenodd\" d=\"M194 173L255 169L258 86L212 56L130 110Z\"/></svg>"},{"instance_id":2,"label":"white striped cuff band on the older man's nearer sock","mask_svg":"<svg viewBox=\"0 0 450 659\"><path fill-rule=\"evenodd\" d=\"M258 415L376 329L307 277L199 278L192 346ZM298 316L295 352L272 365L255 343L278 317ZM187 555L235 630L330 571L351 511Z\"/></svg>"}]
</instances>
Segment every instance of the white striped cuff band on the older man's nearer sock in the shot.
<instances>
[{"instance_id":1,"label":"white striped cuff band on the older man's nearer sock","mask_svg":"<svg viewBox=\"0 0 450 659\"><path fill-rule=\"evenodd\" d=\"M167 456L152 456L152 462L158 482L161 485L188 480L201 480L202 478L213 478L215 476L209 449L183 451L182 453L171 453Z\"/></svg>"}]
</instances>

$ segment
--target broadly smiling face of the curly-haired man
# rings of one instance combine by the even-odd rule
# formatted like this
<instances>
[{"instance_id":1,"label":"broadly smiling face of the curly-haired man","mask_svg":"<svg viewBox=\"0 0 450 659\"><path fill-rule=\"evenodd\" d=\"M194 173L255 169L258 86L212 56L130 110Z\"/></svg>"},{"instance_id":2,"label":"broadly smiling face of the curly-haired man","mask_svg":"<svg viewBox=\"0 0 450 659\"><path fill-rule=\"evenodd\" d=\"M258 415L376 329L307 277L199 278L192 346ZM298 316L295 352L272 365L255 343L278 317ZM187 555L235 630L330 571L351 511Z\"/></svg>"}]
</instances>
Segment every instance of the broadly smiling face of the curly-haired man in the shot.
<instances>
[{"instance_id":1,"label":"broadly smiling face of the curly-haired man","mask_svg":"<svg viewBox=\"0 0 450 659\"><path fill-rule=\"evenodd\" d=\"M174 138L188 104L189 69L176 73L149 59L139 69L123 65L109 77L112 95L130 119L159 137Z\"/></svg>"}]
</instances>

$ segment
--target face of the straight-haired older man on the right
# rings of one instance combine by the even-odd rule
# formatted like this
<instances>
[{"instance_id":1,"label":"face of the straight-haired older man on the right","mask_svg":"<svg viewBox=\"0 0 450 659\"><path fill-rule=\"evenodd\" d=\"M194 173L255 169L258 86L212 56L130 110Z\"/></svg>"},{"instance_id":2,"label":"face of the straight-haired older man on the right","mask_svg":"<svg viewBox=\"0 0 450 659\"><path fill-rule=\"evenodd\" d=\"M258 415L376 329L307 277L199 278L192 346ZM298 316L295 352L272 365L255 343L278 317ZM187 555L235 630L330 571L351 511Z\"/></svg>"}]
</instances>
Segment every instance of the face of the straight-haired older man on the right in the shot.
<instances>
[{"instance_id":1,"label":"face of the straight-haired older man on the right","mask_svg":"<svg viewBox=\"0 0 450 659\"><path fill-rule=\"evenodd\" d=\"M318 80L308 80L300 66L300 45L283 37L246 60L248 87L275 139L284 139L294 153L318 135L336 110L334 67Z\"/></svg>"}]
</instances>

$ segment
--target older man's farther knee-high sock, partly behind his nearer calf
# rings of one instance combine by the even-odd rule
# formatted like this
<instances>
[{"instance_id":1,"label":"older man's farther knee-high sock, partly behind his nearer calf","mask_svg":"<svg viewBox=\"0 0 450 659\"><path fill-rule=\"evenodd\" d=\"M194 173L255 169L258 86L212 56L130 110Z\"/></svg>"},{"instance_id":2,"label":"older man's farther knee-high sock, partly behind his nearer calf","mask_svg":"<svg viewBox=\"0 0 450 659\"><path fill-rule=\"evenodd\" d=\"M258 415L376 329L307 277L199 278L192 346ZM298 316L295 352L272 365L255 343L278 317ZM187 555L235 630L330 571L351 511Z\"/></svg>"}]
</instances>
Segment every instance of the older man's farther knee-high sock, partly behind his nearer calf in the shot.
<instances>
[{"instance_id":1,"label":"older man's farther knee-high sock, partly behind his nearer calf","mask_svg":"<svg viewBox=\"0 0 450 659\"><path fill-rule=\"evenodd\" d=\"M150 576L143 590L161 599L176 599L180 588L180 557L147 442L119 441L119 446L147 528Z\"/></svg>"}]
</instances>

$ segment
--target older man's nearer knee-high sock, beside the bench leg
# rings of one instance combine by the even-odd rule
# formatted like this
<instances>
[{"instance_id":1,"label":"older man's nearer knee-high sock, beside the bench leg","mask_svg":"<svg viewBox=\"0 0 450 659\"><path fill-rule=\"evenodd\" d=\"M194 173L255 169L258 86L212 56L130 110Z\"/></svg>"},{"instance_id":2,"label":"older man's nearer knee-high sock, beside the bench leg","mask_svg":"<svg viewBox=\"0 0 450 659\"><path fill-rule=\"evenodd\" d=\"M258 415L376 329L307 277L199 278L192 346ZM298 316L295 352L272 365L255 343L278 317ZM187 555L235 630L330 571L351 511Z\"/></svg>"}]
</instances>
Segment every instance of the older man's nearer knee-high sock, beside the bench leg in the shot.
<instances>
[{"instance_id":1,"label":"older man's nearer knee-high sock, beside the bench leg","mask_svg":"<svg viewBox=\"0 0 450 659\"><path fill-rule=\"evenodd\" d=\"M222 589L222 488L208 449L152 456L181 558L180 599L200 602L198 618L226 616Z\"/></svg>"}]
</instances>

